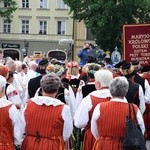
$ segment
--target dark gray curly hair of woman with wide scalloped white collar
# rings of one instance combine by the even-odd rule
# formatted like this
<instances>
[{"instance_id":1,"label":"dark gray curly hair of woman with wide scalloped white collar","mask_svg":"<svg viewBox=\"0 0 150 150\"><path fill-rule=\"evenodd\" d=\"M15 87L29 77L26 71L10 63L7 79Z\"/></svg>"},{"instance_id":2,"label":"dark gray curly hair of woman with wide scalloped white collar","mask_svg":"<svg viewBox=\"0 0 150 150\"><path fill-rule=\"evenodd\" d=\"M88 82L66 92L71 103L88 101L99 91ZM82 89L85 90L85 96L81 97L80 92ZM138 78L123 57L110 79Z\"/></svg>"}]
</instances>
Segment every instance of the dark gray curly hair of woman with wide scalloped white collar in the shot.
<instances>
[{"instance_id":1,"label":"dark gray curly hair of woman with wide scalloped white collar","mask_svg":"<svg viewBox=\"0 0 150 150\"><path fill-rule=\"evenodd\" d=\"M55 93L61 86L61 79L54 73L44 75L40 81L45 93Z\"/></svg>"}]
</instances>

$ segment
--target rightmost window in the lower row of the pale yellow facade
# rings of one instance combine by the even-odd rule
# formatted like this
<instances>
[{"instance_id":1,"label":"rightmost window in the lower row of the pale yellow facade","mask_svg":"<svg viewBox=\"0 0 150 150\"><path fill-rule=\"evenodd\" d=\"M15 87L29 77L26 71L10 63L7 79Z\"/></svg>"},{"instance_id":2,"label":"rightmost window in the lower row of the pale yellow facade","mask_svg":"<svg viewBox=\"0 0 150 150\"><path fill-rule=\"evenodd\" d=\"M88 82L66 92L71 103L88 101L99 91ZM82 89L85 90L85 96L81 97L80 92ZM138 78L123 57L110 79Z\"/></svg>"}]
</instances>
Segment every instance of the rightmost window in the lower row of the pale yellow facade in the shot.
<instances>
[{"instance_id":1,"label":"rightmost window in the lower row of the pale yellow facade","mask_svg":"<svg viewBox=\"0 0 150 150\"><path fill-rule=\"evenodd\" d=\"M57 21L57 34L66 34L66 21Z\"/></svg>"}]
</instances>

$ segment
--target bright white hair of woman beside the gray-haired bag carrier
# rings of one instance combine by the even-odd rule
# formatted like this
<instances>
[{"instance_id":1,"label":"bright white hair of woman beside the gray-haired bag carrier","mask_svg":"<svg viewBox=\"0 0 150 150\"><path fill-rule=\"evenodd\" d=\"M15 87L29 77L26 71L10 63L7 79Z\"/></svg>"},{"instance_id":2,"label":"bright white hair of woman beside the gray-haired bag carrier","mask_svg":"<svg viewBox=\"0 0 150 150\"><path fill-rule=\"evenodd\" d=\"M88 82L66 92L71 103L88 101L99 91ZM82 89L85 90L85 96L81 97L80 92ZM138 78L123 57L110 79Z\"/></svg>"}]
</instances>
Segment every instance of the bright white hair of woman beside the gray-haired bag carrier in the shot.
<instances>
[{"instance_id":1,"label":"bright white hair of woman beside the gray-haired bag carrier","mask_svg":"<svg viewBox=\"0 0 150 150\"><path fill-rule=\"evenodd\" d=\"M113 74L109 70L98 70L95 73L95 81L100 82L102 87L109 87L111 80L113 79Z\"/></svg>"}]
</instances>

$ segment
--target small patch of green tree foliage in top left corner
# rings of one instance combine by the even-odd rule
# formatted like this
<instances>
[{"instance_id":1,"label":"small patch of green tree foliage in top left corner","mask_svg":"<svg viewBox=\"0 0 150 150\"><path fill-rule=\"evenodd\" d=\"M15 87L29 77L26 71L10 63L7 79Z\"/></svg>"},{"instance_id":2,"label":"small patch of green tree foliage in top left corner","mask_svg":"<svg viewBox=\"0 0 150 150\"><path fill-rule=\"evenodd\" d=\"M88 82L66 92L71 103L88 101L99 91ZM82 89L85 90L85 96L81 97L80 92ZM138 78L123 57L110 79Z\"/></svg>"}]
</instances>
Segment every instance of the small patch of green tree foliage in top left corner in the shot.
<instances>
[{"instance_id":1,"label":"small patch of green tree foliage in top left corner","mask_svg":"<svg viewBox=\"0 0 150 150\"><path fill-rule=\"evenodd\" d=\"M8 18L17 9L17 3L13 0L0 0L0 17Z\"/></svg>"}]
</instances>

